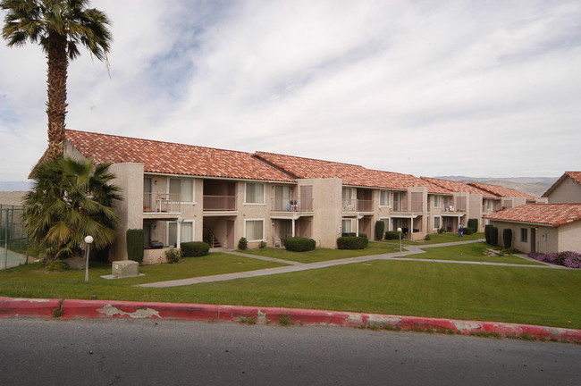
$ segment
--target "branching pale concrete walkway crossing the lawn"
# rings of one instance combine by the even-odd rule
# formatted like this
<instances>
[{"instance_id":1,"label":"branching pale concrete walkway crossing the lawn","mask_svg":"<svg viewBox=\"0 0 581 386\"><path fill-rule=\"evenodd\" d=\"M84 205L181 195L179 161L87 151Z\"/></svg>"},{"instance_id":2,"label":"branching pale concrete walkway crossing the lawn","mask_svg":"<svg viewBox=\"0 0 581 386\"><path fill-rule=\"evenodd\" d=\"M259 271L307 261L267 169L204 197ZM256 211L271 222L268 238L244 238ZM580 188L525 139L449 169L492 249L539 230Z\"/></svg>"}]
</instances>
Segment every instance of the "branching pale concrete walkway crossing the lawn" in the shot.
<instances>
[{"instance_id":1,"label":"branching pale concrete walkway crossing the lawn","mask_svg":"<svg viewBox=\"0 0 581 386\"><path fill-rule=\"evenodd\" d=\"M175 281L156 281L150 282L145 284L139 284L137 287L152 287L152 288L166 288L166 287L178 287L183 285L191 285L191 284L200 284L206 282L215 282L215 281L229 281L233 279L241 279L241 278L251 278L251 277L259 277L259 276L267 276L272 274L278 273L294 273L299 271L308 271L320 268L326 268L335 265L344 265L344 264L354 264L354 263L365 263L367 261L372 260L399 260L399 261L416 261L416 262L429 262L429 263L442 263L442 264L471 264L471 265L500 265L500 266L516 266L522 268L545 268L545 269L567 269L565 267L560 267L558 265L528 265L528 264L509 264L509 263L489 263L489 262L473 262L473 261L457 261L457 260L434 260L434 259L422 259L422 258L414 258L414 257L404 257L409 255L417 255L425 253L423 249L425 248L437 248L437 247L450 247L455 245L461 244L470 244L476 242L482 242L484 239L476 239L470 241L457 241L457 242L449 242L449 243L442 243L442 244L431 244L425 246L405 246L406 250L403 252L395 252L389 254L382 254L382 255L372 255L372 256L358 256L358 257L350 257L340 260L328 260L316 263L297 263L297 262L290 262L288 260L277 259L273 257L265 257L265 256L256 256L256 255L249 255L240 252L233 252L228 251L226 253L230 255L237 255L237 256L244 256L249 258L257 258L259 260L265 261L272 261L275 263L282 263L288 264L285 266L274 267L274 268L265 268L255 271L247 271L247 272L240 272L240 273L223 273L211 276L201 276L201 277L194 277L189 279L181 279Z\"/></svg>"}]
</instances>

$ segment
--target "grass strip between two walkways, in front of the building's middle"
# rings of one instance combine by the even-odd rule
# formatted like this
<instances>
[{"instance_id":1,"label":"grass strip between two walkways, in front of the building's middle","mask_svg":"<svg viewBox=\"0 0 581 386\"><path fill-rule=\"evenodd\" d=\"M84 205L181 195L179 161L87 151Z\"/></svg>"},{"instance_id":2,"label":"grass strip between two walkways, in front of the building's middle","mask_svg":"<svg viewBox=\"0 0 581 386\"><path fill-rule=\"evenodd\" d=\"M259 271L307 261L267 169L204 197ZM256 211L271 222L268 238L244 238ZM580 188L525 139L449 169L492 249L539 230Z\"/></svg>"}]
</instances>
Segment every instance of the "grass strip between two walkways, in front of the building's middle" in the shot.
<instances>
[{"instance_id":1,"label":"grass strip between two walkways, in front of the building's middle","mask_svg":"<svg viewBox=\"0 0 581 386\"><path fill-rule=\"evenodd\" d=\"M358 250L316 248L315 250L308 252L289 252L284 248L264 248L238 252L247 253L249 255L275 257L282 260L308 264L356 256L381 255L398 251L400 251L399 244L395 246L384 242L369 241L369 246L367 248Z\"/></svg>"}]
</instances>

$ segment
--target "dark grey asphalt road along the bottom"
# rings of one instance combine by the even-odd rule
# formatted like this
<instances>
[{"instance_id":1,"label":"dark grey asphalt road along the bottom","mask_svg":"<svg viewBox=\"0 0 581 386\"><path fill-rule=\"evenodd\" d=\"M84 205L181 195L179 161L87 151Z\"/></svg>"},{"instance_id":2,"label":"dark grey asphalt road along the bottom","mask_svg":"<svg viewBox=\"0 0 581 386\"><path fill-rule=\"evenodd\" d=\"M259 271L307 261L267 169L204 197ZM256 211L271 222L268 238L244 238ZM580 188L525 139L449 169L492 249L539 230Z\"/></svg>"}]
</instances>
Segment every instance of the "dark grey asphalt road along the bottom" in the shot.
<instances>
[{"instance_id":1,"label":"dark grey asphalt road along the bottom","mask_svg":"<svg viewBox=\"0 0 581 386\"><path fill-rule=\"evenodd\" d=\"M579 385L581 346L154 320L0 319L8 385Z\"/></svg>"}]
</instances>

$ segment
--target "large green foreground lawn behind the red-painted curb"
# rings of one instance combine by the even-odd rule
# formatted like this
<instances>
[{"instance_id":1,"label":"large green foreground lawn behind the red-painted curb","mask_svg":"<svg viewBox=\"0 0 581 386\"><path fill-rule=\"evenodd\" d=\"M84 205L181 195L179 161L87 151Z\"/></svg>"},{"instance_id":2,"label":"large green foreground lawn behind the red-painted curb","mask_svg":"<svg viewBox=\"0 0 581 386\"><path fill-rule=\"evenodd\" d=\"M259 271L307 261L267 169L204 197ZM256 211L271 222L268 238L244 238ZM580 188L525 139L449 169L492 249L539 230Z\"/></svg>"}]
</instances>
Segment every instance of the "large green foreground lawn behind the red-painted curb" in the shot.
<instances>
[{"instance_id":1,"label":"large green foreground lawn behind the red-painted curb","mask_svg":"<svg viewBox=\"0 0 581 386\"><path fill-rule=\"evenodd\" d=\"M475 256L470 259L474 259L479 245L430 248L429 253L417 256L441 254L450 260L450 256L463 250L460 253L472 253ZM476 249L469 252L468 246ZM140 267L140 272L146 273L140 278L105 280L99 276L111 273L111 266L101 264L90 268L87 284L83 271L47 272L40 264L29 264L0 271L0 296L97 296L112 300L303 307L581 328L581 270L374 260L167 289L132 287L147 281L277 265L281 264L213 253L186 258L179 264Z\"/></svg>"}]
</instances>

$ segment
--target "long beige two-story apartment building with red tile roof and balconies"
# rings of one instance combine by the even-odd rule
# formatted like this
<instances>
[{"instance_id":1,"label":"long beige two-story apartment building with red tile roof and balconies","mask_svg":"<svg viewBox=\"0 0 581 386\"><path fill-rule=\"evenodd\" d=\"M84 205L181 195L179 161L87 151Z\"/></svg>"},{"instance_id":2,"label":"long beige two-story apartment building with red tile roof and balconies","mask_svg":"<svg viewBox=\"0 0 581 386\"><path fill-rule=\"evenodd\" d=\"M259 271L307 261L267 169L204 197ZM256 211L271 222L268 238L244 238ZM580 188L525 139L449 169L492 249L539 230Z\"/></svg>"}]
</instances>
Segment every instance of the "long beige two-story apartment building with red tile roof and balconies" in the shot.
<instances>
[{"instance_id":1,"label":"long beige two-story apartment building with red tile roof and balconies","mask_svg":"<svg viewBox=\"0 0 581 386\"><path fill-rule=\"evenodd\" d=\"M407 238L423 239L481 218L478 197L486 196L353 164L77 130L66 130L65 155L112 164L125 197L112 258L126 256L127 230L143 229L146 263L161 258L156 248L190 240L236 248L245 237L256 248L301 236L336 248L344 233L373 237L377 221L387 231L401 228Z\"/></svg>"}]
</instances>

